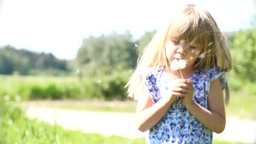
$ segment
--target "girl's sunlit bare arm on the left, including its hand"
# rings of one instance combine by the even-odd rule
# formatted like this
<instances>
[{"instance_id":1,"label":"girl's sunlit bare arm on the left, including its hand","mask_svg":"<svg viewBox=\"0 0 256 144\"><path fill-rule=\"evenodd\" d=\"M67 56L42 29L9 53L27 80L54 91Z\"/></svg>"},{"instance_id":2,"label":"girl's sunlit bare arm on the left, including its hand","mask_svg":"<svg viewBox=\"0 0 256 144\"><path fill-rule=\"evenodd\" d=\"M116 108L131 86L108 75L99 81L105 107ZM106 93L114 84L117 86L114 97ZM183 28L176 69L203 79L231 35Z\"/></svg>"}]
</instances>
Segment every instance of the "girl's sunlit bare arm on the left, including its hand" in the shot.
<instances>
[{"instance_id":1,"label":"girl's sunlit bare arm on the left, including its hand","mask_svg":"<svg viewBox=\"0 0 256 144\"><path fill-rule=\"evenodd\" d=\"M185 80L177 81L171 87L170 93L154 105L152 105L152 98L150 98L148 89L143 86L143 94L138 100L136 109L136 123L140 131L145 132L152 128L165 115L173 101L177 99L177 96L184 97L187 94L188 85L182 82L185 82Z\"/></svg>"}]
</instances>

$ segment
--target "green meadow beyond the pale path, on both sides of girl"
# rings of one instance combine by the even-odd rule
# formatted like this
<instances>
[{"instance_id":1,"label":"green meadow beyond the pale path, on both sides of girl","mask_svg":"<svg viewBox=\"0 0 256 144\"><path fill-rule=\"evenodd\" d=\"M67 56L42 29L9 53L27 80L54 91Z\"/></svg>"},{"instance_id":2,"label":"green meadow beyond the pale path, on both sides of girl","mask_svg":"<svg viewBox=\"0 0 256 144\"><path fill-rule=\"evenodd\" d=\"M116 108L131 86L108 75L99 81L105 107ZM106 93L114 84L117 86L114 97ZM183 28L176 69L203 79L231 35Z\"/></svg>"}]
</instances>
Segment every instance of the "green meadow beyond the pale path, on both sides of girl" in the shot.
<instances>
[{"instance_id":1,"label":"green meadow beyond the pale path, on both sides of girl","mask_svg":"<svg viewBox=\"0 0 256 144\"><path fill-rule=\"evenodd\" d=\"M127 98L124 88L129 72L102 76L3 76L0 75L0 98L9 101L47 101L40 106L109 112L135 112L136 101ZM226 106L228 116L256 119L256 83L231 79L230 103ZM61 103L54 103L62 101ZM65 102L66 101L66 102ZM73 101L73 102L72 102ZM85 101L85 102L83 102ZM86 103L89 101L89 103ZM96 101L97 103L91 103ZM101 104L98 104L100 102ZM106 101L108 101L106 103ZM111 103L116 101L116 103ZM80 103L80 104L77 104ZM125 103L119 104L117 103ZM118 109L117 109L118 108Z\"/></svg>"}]
</instances>

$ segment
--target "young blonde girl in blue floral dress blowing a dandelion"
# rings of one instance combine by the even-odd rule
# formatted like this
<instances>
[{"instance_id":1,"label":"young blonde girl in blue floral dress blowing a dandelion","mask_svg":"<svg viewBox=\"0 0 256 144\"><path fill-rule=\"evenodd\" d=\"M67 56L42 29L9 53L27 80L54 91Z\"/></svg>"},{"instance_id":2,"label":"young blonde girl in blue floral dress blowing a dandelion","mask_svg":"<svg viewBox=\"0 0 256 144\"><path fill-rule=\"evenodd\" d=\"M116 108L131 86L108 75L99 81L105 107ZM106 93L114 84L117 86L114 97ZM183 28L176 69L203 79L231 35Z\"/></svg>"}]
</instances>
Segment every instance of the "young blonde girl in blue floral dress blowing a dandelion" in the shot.
<instances>
[{"instance_id":1,"label":"young blonde girl in blue floral dress blowing a dandelion","mask_svg":"<svg viewBox=\"0 0 256 144\"><path fill-rule=\"evenodd\" d=\"M213 131L225 129L229 70L227 40L211 14L192 4L173 13L127 83L146 142L212 143Z\"/></svg>"}]
</instances>

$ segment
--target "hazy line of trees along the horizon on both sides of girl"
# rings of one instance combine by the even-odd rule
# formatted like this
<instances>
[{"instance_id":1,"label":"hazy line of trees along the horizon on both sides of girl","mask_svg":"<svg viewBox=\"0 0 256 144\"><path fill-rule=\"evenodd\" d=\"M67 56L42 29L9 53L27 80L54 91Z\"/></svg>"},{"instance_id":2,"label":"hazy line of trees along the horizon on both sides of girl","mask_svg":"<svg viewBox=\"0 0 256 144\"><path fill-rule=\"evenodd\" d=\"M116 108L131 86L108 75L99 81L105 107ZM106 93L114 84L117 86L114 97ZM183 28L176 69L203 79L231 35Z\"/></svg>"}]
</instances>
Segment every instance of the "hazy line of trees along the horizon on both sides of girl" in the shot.
<instances>
[{"instance_id":1,"label":"hazy line of trees along the horizon on both sides of girl","mask_svg":"<svg viewBox=\"0 0 256 144\"><path fill-rule=\"evenodd\" d=\"M133 39L129 31L85 38L72 61L58 59L51 53L16 50L7 45L0 48L0 74L17 71L22 75L30 75L36 74L33 71L49 70L49 74L53 74L53 71L55 74L60 71L71 74L71 71L79 69L84 75L97 76L112 73L115 69L134 69L139 54L155 33L145 32L138 39ZM225 35L229 39L234 62L232 74L241 80L256 81L256 27Z\"/></svg>"}]
</instances>

